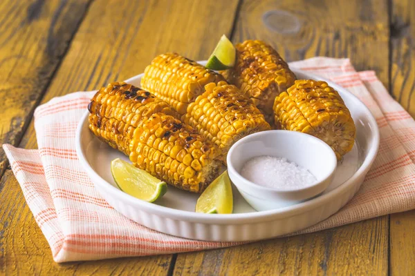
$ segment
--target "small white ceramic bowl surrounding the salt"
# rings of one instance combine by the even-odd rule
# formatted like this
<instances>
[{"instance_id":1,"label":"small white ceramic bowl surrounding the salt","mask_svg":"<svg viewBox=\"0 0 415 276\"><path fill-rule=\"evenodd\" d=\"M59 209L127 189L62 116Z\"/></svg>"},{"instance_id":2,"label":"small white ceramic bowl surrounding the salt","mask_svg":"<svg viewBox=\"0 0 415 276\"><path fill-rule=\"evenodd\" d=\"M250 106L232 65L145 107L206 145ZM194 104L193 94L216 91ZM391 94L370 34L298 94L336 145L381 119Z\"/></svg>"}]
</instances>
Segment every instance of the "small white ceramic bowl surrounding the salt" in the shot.
<instances>
[{"instance_id":1,"label":"small white ceramic bowl surrounding the salt","mask_svg":"<svg viewBox=\"0 0 415 276\"><path fill-rule=\"evenodd\" d=\"M295 162L310 171L317 181L292 190L267 188L241 176L243 165L253 157L270 155ZM228 174L239 193L255 210L271 210L298 204L320 195L331 183L337 159L324 141L302 132L268 130L243 137L227 157Z\"/></svg>"}]
</instances>

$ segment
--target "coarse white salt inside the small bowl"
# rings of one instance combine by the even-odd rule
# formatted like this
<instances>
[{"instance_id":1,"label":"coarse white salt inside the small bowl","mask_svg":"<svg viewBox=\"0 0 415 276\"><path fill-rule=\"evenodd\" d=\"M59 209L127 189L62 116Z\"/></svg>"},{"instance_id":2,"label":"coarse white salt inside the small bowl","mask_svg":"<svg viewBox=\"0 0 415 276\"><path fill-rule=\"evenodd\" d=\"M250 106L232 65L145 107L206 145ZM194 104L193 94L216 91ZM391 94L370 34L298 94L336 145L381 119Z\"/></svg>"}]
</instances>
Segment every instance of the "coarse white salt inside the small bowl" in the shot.
<instances>
[{"instance_id":1,"label":"coarse white salt inside the small bowl","mask_svg":"<svg viewBox=\"0 0 415 276\"><path fill-rule=\"evenodd\" d=\"M248 160L243 165L241 175L257 185L284 190L305 188L317 180L306 168L286 158L269 155Z\"/></svg>"}]
</instances>

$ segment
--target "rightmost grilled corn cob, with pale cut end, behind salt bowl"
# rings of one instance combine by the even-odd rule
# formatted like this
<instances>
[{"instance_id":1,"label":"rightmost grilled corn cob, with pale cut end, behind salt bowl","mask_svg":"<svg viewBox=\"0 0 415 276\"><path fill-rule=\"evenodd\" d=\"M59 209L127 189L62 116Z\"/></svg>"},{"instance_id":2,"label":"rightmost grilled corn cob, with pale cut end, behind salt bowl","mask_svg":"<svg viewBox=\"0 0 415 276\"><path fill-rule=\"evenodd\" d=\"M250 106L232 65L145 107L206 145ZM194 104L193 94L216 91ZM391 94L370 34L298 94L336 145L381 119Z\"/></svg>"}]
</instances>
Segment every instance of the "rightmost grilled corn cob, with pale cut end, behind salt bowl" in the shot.
<instances>
[{"instance_id":1,"label":"rightmost grilled corn cob, with pale cut end, behind salt bowl","mask_svg":"<svg viewBox=\"0 0 415 276\"><path fill-rule=\"evenodd\" d=\"M277 128L322 139L341 159L353 148L356 126L339 93L324 81L299 80L275 98Z\"/></svg>"}]
</instances>

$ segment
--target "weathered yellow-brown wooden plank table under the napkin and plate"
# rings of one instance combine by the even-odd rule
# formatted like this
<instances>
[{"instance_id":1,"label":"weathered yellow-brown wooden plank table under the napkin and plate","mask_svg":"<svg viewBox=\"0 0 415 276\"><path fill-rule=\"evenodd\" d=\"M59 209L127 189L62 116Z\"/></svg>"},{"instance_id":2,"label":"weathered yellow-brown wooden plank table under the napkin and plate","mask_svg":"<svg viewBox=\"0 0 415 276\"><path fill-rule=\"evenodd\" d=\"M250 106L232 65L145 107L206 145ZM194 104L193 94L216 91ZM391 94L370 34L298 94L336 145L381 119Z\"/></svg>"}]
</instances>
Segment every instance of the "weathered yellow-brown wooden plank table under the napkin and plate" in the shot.
<instances>
[{"instance_id":1,"label":"weathered yellow-brown wooden plank table under the napkin and plate","mask_svg":"<svg viewBox=\"0 0 415 276\"><path fill-rule=\"evenodd\" d=\"M33 110L142 72L161 52L207 59L221 34L288 61L349 57L415 115L412 0L0 1L0 139L36 148ZM199 253L55 264L0 151L0 274L410 275L415 212Z\"/></svg>"}]
</instances>

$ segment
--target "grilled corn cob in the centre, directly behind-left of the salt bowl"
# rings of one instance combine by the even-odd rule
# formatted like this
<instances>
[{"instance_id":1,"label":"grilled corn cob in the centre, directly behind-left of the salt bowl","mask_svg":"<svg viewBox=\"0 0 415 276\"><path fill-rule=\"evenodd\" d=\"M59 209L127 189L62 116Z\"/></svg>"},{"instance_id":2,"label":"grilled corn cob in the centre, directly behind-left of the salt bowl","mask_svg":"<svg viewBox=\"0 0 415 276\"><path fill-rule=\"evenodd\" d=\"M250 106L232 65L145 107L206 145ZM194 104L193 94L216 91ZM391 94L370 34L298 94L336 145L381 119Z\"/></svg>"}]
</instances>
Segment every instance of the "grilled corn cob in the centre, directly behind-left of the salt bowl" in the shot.
<instances>
[{"instance_id":1,"label":"grilled corn cob in the centre, directly behind-left of the salt bowl","mask_svg":"<svg viewBox=\"0 0 415 276\"><path fill-rule=\"evenodd\" d=\"M234 142L270 125L252 101L226 81L209 83L182 119L221 149L223 161Z\"/></svg>"}]
</instances>

